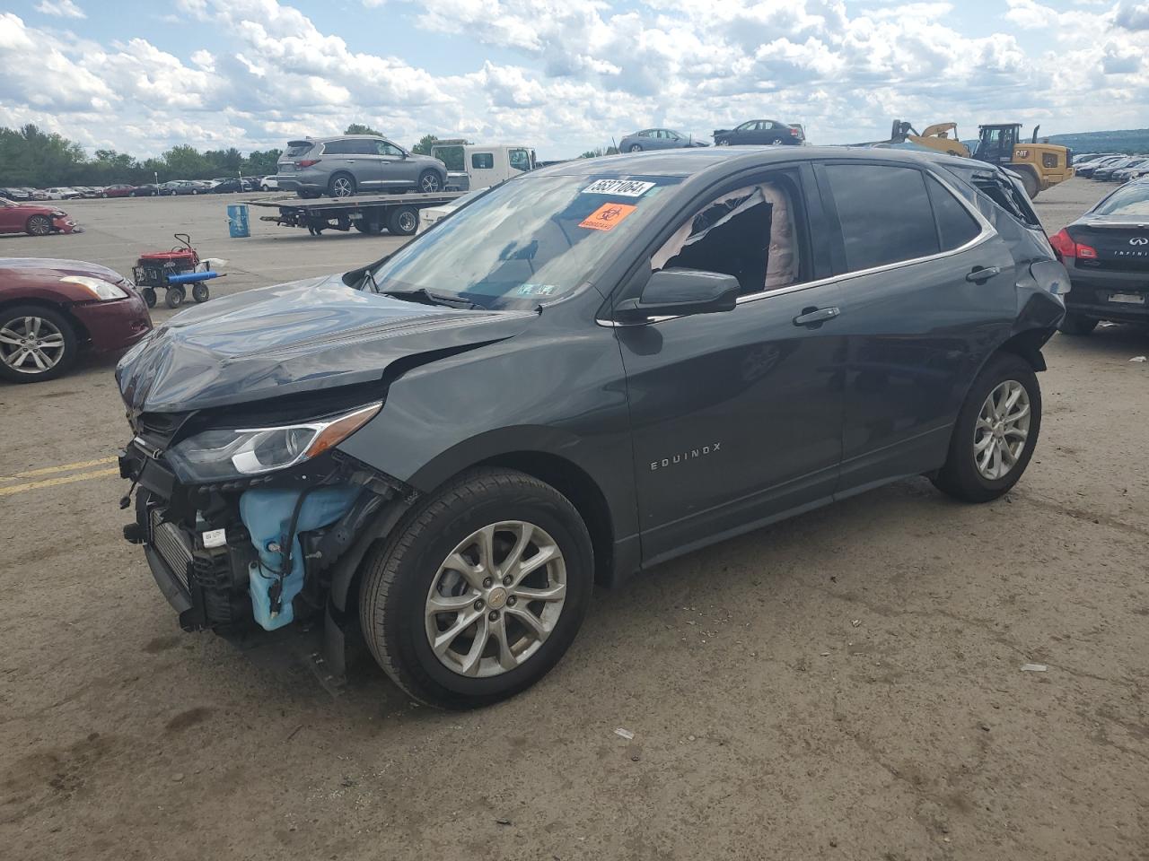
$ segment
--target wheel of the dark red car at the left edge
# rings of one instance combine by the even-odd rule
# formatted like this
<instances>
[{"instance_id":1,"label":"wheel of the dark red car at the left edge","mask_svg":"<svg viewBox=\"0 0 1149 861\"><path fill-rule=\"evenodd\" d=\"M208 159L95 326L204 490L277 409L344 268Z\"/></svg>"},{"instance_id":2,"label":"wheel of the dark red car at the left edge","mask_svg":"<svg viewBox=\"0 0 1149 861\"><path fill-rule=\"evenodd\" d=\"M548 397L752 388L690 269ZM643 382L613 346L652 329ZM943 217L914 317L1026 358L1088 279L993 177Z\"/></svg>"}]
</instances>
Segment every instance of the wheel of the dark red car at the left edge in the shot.
<instances>
[{"instance_id":1,"label":"wheel of the dark red car at the left edge","mask_svg":"<svg viewBox=\"0 0 1149 861\"><path fill-rule=\"evenodd\" d=\"M62 313L38 305L0 312L0 377L43 382L60 377L76 360L76 331Z\"/></svg>"}]
</instances>

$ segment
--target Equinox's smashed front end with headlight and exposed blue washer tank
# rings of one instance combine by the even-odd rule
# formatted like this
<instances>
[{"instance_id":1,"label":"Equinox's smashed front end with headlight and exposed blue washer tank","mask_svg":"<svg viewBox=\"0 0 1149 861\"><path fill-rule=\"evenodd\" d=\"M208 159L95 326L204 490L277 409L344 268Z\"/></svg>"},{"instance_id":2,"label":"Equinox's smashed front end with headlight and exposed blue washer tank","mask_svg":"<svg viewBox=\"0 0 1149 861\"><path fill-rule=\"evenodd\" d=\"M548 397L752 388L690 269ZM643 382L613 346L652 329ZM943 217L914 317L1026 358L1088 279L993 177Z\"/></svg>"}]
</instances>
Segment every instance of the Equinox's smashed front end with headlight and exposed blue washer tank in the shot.
<instances>
[{"instance_id":1,"label":"Equinox's smashed front end with headlight and exposed blue washer tank","mask_svg":"<svg viewBox=\"0 0 1149 861\"><path fill-rule=\"evenodd\" d=\"M124 537L144 546L184 630L247 639L322 621L327 673L341 675L350 581L381 521L415 496L333 448L380 406L199 433L202 414L134 419L119 458L137 488Z\"/></svg>"}]
</instances>

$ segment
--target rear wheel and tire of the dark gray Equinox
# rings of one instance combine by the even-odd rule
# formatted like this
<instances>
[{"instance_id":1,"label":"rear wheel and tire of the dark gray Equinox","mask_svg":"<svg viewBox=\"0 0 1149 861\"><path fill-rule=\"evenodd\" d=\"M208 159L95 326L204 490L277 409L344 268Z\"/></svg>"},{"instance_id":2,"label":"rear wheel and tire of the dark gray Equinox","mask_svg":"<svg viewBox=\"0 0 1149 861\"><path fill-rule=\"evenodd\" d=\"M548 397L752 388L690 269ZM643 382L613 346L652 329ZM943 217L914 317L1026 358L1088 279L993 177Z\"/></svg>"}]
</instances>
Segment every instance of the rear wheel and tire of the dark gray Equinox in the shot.
<instances>
[{"instance_id":1,"label":"rear wheel and tire of the dark gray Equinox","mask_svg":"<svg viewBox=\"0 0 1149 861\"><path fill-rule=\"evenodd\" d=\"M962 502L1004 496L1028 466L1040 430L1038 375L1020 356L997 354L970 387L934 486Z\"/></svg>"}]
</instances>

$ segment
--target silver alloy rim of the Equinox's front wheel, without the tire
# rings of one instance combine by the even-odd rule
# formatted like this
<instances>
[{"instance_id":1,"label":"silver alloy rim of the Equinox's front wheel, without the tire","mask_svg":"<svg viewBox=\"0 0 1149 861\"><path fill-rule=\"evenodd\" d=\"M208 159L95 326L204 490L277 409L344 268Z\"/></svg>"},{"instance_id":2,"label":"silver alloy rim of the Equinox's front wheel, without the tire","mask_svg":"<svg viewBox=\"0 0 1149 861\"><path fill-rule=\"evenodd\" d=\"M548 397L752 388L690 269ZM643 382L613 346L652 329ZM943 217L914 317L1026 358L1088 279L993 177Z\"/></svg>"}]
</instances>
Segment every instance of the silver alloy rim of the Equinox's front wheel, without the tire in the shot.
<instances>
[{"instance_id":1,"label":"silver alloy rim of the Equinox's front wheel, without the tire","mask_svg":"<svg viewBox=\"0 0 1149 861\"><path fill-rule=\"evenodd\" d=\"M491 523L461 541L431 581L427 643L463 676L498 676L522 666L554 631L566 600L563 553L522 520Z\"/></svg>"}]
</instances>

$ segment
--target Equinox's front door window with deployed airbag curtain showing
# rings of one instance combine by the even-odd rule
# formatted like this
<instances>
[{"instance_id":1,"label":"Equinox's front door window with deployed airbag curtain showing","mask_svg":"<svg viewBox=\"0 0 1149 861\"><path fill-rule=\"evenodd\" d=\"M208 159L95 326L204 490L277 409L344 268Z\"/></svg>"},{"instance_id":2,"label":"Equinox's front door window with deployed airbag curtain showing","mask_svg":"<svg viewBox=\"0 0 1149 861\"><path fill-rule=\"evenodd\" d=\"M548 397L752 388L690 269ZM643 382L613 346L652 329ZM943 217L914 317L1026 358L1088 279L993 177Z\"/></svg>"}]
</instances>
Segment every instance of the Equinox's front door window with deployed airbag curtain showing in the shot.
<instances>
[{"instance_id":1,"label":"Equinox's front door window with deployed airbag curtain showing","mask_svg":"<svg viewBox=\"0 0 1149 861\"><path fill-rule=\"evenodd\" d=\"M803 280L802 217L796 179L771 173L700 207L654 254L650 265L734 276L743 296L781 289Z\"/></svg>"}]
</instances>

